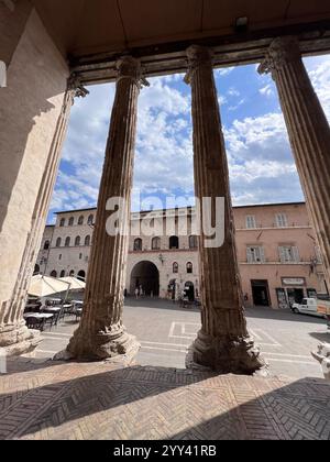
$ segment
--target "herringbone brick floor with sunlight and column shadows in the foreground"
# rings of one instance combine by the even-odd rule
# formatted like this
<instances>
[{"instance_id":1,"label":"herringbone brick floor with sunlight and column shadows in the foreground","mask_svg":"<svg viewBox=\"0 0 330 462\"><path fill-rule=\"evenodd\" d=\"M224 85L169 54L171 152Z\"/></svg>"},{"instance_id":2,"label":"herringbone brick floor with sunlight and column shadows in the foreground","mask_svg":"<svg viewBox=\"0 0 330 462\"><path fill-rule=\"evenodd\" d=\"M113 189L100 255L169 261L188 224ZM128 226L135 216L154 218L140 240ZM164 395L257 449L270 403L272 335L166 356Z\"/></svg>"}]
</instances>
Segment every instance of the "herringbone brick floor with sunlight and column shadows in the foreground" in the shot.
<instances>
[{"instance_id":1,"label":"herringbone brick floor with sunlight and column shadows in the foreground","mask_svg":"<svg viewBox=\"0 0 330 462\"><path fill-rule=\"evenodd\" d=\"M0 439L330 439L326 382L14 360Z\"/></svg>"}]
</instances>

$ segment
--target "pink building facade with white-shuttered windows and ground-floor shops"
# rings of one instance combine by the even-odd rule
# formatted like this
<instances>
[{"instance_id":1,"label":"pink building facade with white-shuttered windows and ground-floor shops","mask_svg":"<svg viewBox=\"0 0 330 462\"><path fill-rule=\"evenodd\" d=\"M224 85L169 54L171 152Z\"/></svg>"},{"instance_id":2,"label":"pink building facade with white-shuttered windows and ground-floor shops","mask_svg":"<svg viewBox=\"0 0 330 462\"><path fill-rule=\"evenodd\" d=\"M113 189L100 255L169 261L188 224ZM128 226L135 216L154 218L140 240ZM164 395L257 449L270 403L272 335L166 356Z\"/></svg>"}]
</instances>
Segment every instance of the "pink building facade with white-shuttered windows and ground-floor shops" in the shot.
<instances>
[{"instance_id":1,"label":"pink building facade with white-shuttered windows and ground-floor shops","mask_svg":"<svg viewBox=\"0 0 330 462\"><path fill-rule=\"evenodd\" d=\"M234 216L248 307L285 308L328 293L306 204L237 207Z\"/></svg>"}]
</instances>

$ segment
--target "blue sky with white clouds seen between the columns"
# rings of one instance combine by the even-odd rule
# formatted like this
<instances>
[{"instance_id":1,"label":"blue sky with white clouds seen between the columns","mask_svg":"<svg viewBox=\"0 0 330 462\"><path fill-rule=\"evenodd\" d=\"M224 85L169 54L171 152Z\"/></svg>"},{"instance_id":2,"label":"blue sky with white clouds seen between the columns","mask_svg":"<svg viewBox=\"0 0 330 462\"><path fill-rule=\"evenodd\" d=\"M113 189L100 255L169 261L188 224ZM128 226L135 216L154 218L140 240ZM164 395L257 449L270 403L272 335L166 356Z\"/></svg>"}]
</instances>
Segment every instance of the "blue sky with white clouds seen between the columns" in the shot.
<instances>
[{"instance_id":1,"label":"blue sky with white clouds seen between the columns","mask_svg":"<svg viewBox=\"0 0 330 462\"><path fill-rule=\"evenodd\" d=\"M305 64L330 120L330 55L306 58ZM256 65L217 69L215 76L233 204L302 200L272 77L260 76ZM168 196L193 202L191 99L183 78L152 78L151 87L141 92L133 210L147 209L150 196L158 199L160 207ZM97 204L114 85L89 90L72 111L50 222L56 211Z\"/></svg>"}]
</instances>

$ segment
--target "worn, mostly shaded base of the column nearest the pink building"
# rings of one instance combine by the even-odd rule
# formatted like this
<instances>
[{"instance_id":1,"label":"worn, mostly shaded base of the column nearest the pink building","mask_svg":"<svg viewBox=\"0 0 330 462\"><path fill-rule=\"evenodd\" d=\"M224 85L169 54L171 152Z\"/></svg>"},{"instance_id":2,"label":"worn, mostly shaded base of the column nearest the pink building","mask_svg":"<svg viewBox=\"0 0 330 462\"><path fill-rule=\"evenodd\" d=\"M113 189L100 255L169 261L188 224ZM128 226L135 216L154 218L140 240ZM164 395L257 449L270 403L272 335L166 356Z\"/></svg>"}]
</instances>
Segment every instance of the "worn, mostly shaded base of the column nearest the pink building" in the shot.
<instances>
[{"instance_id":1,"label":"worn, mostly shaded base of the column nearest the pink building","mask_svg":"<svg viewBox=\"0 0 330 462\"><path fill-rule=\"evenodd\" d=\"M187 369L210 369L220 374L253 375L266 371L267 364L260 355L251 337L211 337L200 331L190 346Z\"/></svg>"}]
</instances>

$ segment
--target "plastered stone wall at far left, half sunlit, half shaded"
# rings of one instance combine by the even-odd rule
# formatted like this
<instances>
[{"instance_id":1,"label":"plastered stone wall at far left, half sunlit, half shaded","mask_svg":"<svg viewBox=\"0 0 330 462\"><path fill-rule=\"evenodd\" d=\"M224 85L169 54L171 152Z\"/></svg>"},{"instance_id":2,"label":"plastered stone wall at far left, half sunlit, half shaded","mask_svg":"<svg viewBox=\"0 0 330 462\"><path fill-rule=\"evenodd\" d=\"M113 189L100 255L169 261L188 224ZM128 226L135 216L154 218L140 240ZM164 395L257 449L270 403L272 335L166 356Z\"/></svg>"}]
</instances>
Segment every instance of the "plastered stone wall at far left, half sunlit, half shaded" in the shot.
<instances>
[{"instance_id":1,"label":"plastered stone wall at far left, half sunlit, half shaded","mask_svg":"<svg viewBox=\"0 0 330 462\"><path fill-rule=\"evenodd\" d=\"M0 41L1 42L1 41ZM14 287L46 160L62 111L68 68L33 11L0 89L0 306Z\"/></svg>"}]
</instances>

